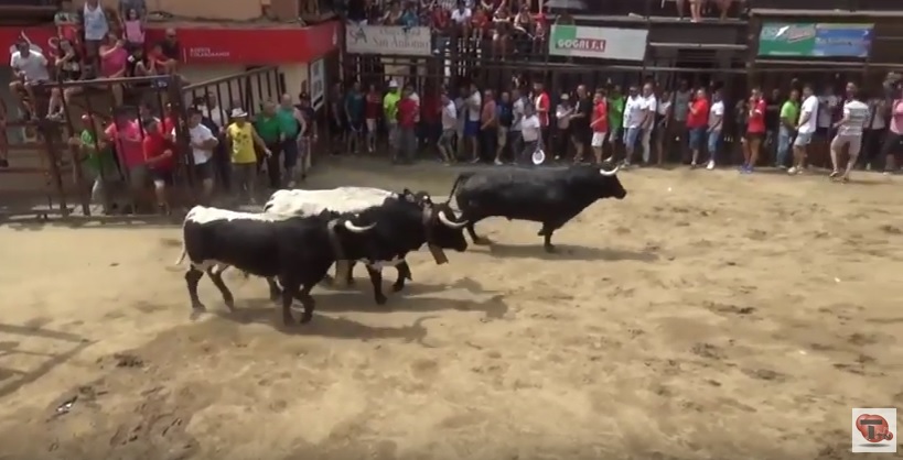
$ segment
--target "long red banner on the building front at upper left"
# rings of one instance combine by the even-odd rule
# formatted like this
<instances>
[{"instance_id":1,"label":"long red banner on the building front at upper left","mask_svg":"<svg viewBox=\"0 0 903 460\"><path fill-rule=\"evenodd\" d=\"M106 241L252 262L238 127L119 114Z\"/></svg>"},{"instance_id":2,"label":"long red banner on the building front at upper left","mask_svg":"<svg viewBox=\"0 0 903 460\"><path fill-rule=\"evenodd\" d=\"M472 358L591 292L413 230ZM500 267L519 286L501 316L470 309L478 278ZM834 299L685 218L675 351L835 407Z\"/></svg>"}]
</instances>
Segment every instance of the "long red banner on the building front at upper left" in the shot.
<instances>
[{"instance_id":1,"label":"long red banner on the building front at upper left","mask_svg":"<svg viewBox=\"0 0 903 460\"><path fill-rule=\"evenodd\" d=\"M148 43L163 39L164 29L151 24ZM271 65L309 63L338 47L341 26L337 21L310 28L207 28L175 26L185 64ZM15 41L24 36L46 54L56 48L53 25L0 28L0 46L12 53Z\"/></svg>"}]
</instances>

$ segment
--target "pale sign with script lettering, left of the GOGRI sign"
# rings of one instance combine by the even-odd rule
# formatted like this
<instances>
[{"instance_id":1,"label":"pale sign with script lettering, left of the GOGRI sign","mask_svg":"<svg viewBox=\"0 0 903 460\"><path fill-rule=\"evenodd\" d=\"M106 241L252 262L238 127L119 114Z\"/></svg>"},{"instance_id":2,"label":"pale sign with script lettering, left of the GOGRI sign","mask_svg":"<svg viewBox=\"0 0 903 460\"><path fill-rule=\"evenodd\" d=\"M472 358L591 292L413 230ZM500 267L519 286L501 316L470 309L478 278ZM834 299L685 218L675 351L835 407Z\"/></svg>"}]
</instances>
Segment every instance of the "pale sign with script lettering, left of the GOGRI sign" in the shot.
<instances>
[{"instance_id":1,"label":"pale sign with script lettering, left of the GOGRI sign","mask_svg":"<svg viewBox=\"0 0 903 460\"><path fill-rule=\"evenodd\" d=\"M430 28L345 24L346 52L397 56L432 55Z\"/></svg>"}]
</instances>

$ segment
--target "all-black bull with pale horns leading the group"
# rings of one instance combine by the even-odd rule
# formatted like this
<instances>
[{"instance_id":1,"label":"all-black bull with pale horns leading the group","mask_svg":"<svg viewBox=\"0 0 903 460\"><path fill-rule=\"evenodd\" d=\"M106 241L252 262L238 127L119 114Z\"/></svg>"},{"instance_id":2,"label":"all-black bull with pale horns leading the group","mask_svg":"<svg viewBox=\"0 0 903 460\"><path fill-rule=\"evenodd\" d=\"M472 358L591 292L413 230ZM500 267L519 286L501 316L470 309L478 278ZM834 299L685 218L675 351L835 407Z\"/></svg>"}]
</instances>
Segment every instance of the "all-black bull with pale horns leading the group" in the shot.
<instances>
[{"instance_id":1,"label":"all-black bull with pale horns leading the group","mask_svg":"<svg viewBox=\"0 0 903 460\"><path fill-rule=\"evenodd\" d=\"M454 182L449 200L454 197L461 221L474 244L488 240L474 231L476 222L488 217L529 220L542 223L546 251L555 251L552 233L598 199L627 196L617 169L576 165L569 167L491 168L462 173Z\"/></svg>"}]
</instances>

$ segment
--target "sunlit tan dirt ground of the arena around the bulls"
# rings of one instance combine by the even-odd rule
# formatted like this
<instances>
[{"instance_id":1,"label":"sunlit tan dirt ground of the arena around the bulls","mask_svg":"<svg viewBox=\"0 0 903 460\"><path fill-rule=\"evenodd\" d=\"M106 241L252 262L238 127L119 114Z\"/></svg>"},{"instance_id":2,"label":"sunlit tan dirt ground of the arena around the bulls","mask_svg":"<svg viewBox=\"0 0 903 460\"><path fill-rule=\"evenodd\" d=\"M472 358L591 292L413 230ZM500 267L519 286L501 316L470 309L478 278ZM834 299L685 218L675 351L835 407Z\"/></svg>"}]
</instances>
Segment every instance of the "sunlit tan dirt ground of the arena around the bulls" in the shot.
<instances>
[{"instance_id":1,"label":"sunlit tan dirt ground of the arena around the bulls","mask_svg":"<svg viewBox=\"0 0 903 460\"><path fill-rule=\"evenodd\" d=\"M899 179L620 176L559 254L488 220L386 307L362 270L290 331L236 273L240 311L205 280L191 321L176 227L0 227L0 458L839 459L851 407L903 406Z\"/></svg>"}]
</instances>

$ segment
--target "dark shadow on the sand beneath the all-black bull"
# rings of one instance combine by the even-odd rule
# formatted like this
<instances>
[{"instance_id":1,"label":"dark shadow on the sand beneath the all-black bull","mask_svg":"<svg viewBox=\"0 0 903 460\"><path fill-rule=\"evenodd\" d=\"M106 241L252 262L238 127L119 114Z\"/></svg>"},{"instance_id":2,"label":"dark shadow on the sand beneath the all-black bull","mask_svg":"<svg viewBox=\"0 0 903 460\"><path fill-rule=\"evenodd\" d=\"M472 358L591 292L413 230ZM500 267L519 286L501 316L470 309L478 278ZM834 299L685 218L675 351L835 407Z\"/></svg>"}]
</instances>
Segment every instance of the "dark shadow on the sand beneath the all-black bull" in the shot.
<instances>
[{"instance_id":1,"label":"dark shadow on the sand beneath the all-black bull","mask_svg":"<svg viewBox=\"0 0 903 460\"><path fill-rule=\"evenodd\" d=\"M593 248L580 244L556 244L546 252L542 244L508 244L493 242L487 253L493 258L542 259L549 261L637 261L655 262L658 254L651 250L631 251L617 248Z\"/></svg>"}]
</instances>

